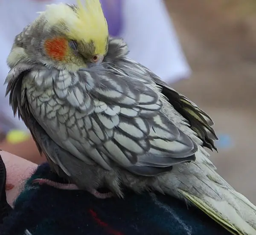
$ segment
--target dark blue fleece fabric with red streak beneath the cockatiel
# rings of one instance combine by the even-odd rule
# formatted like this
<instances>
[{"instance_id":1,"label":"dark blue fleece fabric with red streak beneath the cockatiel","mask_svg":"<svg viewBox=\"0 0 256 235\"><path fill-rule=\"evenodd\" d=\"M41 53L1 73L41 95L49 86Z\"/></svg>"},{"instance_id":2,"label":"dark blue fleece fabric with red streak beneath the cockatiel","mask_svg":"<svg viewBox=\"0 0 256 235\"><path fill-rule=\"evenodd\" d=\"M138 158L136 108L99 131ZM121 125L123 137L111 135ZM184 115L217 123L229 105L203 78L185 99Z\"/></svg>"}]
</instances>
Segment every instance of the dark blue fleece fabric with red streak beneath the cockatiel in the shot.
<instances>
[{"instance_id":1,"label":"dark blue fleece fabric with red streak beneath the cockatiel","mask_svg":"<svg viewBox=\"0 0 256 235\"><path fill-rule=\"evenodd\" d=\"M1 235L230 235L207 215L170 196L129 190L124 199L97 199L85 191L31 184L34 178L62 181L48 164L38 167Z\"/></svg>"}]
</instances>

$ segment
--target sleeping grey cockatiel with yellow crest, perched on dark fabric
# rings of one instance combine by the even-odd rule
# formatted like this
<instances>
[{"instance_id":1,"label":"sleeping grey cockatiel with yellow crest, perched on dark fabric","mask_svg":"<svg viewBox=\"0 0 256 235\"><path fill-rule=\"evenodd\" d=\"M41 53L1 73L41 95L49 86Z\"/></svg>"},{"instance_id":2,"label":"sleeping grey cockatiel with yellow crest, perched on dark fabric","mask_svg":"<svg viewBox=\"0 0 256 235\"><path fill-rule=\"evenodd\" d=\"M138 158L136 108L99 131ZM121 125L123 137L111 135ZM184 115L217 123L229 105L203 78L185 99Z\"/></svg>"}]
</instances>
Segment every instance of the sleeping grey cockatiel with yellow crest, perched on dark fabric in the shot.
<instances>
[{"instance_id":1,"label":"sleeping grey cockatiel with yellow crest, perched on dark fabric","mask_svg":"<svg viewBox=\"0 0 256 235\"><path fill-rule=\"evenodd\" d=\"M128 58L125 42L109 37L99 0L47 6L15 38L8 65L14 113L70 184L36 182L99 198L123 197L122 185L156 190L190 201L233 234L256 235L256 207L204 149L217 139L210 117Z\"/></svg>"}]
</instances>

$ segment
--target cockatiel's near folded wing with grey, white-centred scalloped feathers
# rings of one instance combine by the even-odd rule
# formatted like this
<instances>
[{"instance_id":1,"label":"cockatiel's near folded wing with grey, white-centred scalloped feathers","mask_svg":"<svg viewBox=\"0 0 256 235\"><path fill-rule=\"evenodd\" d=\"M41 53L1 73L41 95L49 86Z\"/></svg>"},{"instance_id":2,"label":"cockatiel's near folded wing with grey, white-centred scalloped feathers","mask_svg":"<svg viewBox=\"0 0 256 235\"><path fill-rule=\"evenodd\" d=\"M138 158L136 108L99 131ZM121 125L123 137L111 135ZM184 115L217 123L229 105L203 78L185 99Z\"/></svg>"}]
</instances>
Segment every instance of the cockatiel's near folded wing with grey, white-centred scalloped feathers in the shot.
<instances>
[{"instance_id":1,"label":"cockatiel's near folded wing with grey, white-centred scalloped feathers","mask_svg":"<svg viewBox=\"0 0 256 235\"><path fill-rule=\"evenodd\" d=\"M194 159L197 145L161 112L154 82L138 68L118 71L38 67L23 79L30 111L59 146L107 170L115 162L154 175Z\"/></svg>"}]
</instances>

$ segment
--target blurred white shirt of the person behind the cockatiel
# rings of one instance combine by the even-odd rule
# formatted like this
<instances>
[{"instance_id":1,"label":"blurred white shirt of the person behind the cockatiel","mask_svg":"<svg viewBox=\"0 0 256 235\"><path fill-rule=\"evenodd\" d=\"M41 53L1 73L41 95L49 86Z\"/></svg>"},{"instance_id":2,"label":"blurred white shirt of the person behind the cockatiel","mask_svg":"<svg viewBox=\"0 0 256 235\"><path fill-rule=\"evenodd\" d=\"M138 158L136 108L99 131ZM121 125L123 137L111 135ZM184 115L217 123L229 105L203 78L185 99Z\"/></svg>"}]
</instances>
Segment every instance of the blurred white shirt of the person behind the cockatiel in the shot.
<instances>
[{"instance_id":1,"label":"blurred white shirt of the person behind the cockatiel","mask_svg":"<svg viewBox=\"0 0 256 235\"><path fill-rule=\"evenodd\" d=\"M76 0L63 0L76 4ZM4 82L9 68L6 58L17 34L44 11L46 4L61 0L1 0L0 1L0 82ZM175 29L162 0L124 0L124 27L121 37L128 43L129 57L145 65L166 82L175 82L190 75L190 68L178 42ZM2 80L2 81L1 81ZM0 86L1 116L12 119L17 129L26 130L17 117L13 117L6 86ZM3 125L3 124L2 124ZM13 128L13 127L10 127Z\"/></svg>"}]
</instances>

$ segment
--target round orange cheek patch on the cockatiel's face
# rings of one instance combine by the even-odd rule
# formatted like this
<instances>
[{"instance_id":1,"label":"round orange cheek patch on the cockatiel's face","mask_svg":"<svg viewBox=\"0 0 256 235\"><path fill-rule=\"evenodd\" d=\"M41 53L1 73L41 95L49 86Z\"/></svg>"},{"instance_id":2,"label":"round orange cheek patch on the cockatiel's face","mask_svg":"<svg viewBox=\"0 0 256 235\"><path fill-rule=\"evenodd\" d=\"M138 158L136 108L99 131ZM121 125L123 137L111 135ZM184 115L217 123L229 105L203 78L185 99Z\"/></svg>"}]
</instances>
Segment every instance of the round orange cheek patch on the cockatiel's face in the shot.
<instances>
[{"instance_id":1,"label":"round orange cheek patch on the cockatiel's face","mask_svg":"<svg viewBox=\"0 0 256 235\"><path fill-rule=\"evenodd\" d=\"M62 37L55 37L45 40L44 47L52 59L62 61L67 56L68 42L67 39Z\"/></svg>"}]
</instances>

